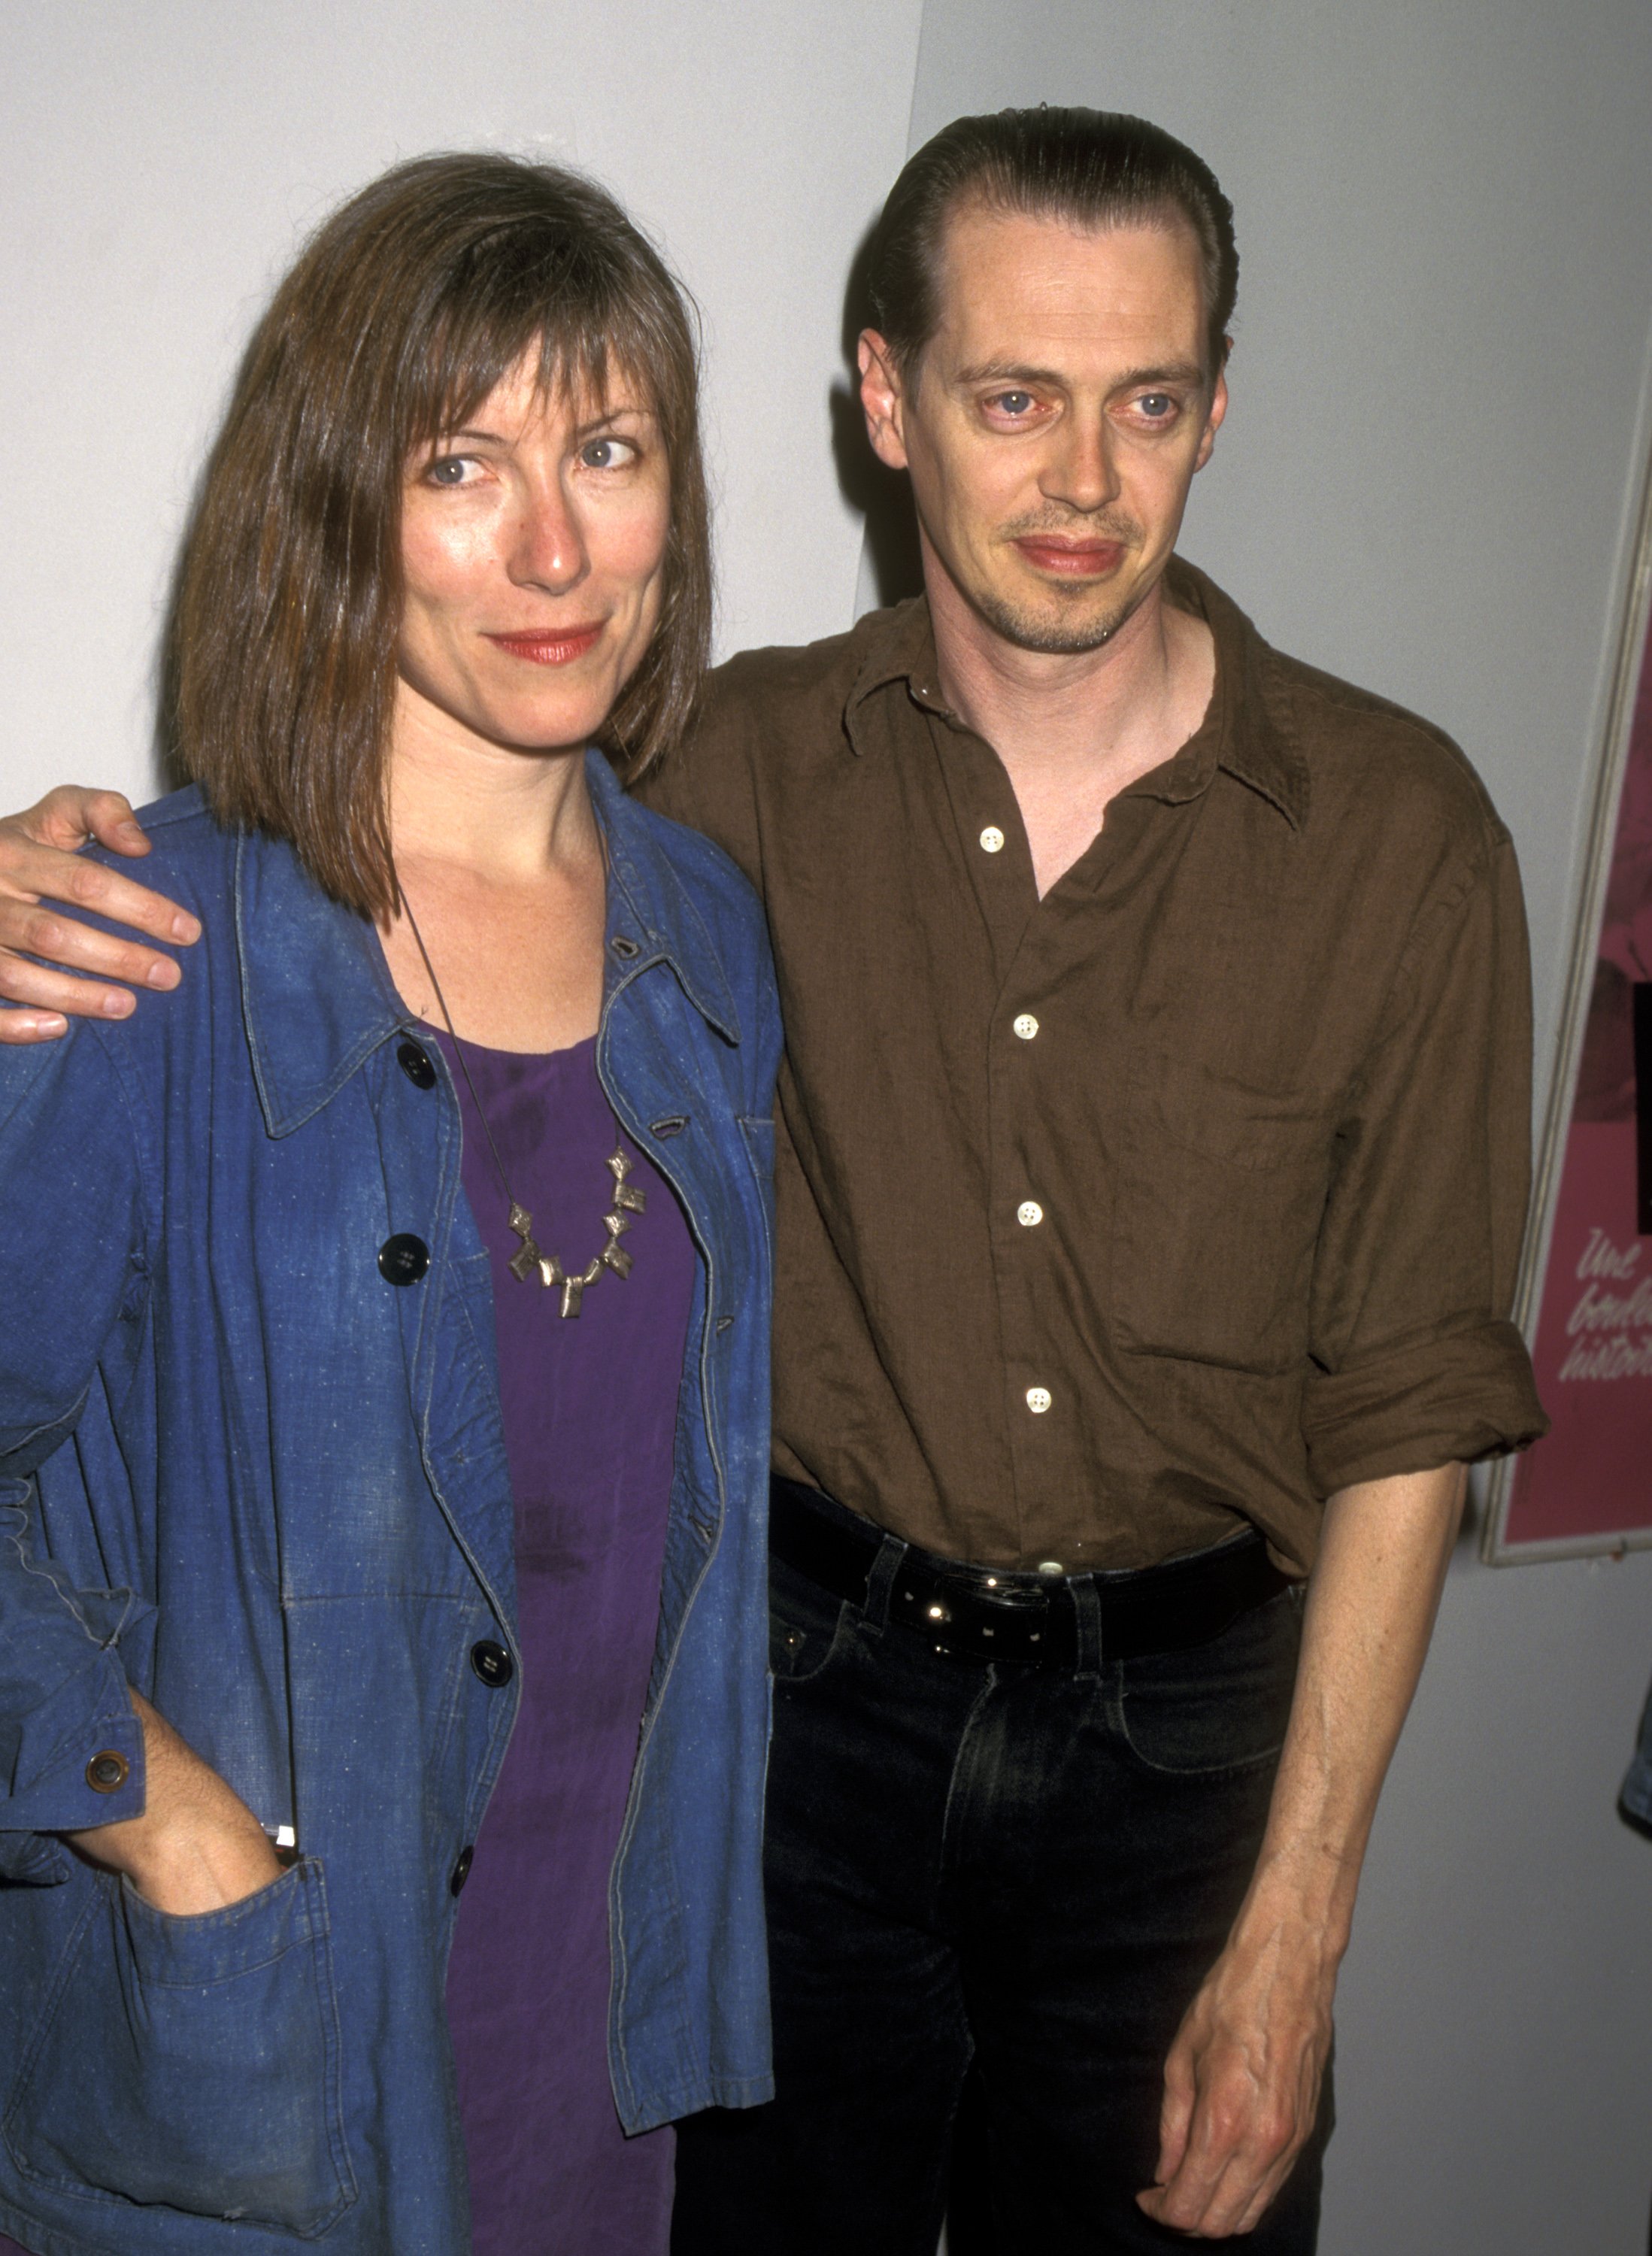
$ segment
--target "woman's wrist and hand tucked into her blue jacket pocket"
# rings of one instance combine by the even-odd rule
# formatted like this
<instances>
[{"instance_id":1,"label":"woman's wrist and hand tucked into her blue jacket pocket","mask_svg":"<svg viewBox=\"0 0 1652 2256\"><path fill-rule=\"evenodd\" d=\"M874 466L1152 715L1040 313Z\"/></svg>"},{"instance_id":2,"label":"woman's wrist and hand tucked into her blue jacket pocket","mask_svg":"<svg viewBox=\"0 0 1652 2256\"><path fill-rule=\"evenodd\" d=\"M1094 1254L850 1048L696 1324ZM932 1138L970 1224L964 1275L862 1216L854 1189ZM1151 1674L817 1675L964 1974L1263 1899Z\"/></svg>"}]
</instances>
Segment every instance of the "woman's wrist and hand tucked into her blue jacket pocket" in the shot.
<instances>
[{"instance_id":1,"label":"woman's wrist and hand tucked into her blue jacket pocket","mask_svg":"<svg viewBox=\"0 0 1652 2256\"><path fill-rule=\"evenodd\" d=\"M280 1879L282 1863L241 1796L142 1694L144 1814L65 1834L93 1863L124 1872L156 1911L223 1911Z\"/></svg>"}]
</instances>

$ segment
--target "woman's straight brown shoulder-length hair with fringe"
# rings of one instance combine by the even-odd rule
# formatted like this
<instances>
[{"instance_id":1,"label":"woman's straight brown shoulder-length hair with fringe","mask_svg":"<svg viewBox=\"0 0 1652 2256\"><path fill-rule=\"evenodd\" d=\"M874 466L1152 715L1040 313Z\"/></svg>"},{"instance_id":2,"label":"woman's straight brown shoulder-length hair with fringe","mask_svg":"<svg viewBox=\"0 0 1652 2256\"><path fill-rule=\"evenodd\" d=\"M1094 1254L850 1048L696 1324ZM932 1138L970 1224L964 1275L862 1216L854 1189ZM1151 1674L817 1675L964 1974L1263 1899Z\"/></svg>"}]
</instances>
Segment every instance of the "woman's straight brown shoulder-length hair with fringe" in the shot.
<instances>
[{"instance_id":1,"label":"woman's straight brown shoulder-length hair with fringe","mask_svg":"<svg viewBox=\"0 0 1652 2256\"><path fill-rule=\"evenodd\" d=\"M677 738L711 638L695 332L659 253L555 165L427 156L336 210L275 291L205 467L172 618L178 760L223 823L289 839L334 900L397 905L386 754L408 453L526 352L546 388L639 384L670 462L654 638L603 747Z\"/></svg>"}]
</instances>

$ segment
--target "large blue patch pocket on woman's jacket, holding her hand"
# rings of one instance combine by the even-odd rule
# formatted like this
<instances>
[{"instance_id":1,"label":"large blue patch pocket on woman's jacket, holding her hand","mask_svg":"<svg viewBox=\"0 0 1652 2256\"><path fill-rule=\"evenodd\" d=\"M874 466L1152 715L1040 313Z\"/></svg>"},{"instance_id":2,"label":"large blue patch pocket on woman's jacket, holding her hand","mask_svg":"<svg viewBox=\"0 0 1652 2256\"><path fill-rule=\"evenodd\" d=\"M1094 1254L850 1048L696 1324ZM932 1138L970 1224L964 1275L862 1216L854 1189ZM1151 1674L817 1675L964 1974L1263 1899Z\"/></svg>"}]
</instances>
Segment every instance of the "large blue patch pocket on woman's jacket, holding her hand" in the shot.
<instances>
[{"instance_id":1,"label":"large blue patch pocket on woman's jacket, holding her hand","mask_svg":"<svg viewBox=\"0 0 1652 2256\"><path fill-rule=\"evenodd\" d=\"M192 1918L95 1875L5 2139L65 2193L325 2231L357 2186L320 1863Z\"/></svg>"}]
</instances>

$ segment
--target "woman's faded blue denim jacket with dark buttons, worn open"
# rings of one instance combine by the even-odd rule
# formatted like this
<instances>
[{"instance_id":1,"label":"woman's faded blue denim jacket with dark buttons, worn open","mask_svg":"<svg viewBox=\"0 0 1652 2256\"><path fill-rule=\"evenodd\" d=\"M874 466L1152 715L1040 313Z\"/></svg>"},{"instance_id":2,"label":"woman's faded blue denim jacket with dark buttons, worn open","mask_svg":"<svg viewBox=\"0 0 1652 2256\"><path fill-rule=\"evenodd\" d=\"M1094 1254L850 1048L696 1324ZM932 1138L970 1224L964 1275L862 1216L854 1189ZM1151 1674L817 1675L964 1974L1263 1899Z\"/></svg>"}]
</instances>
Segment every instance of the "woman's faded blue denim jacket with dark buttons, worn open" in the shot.
<instances>
[{"instance_id":1,"label":"woman's faded blue denim jacket with dark buttons, worn open","mask_svg":"<svg viewBox=\"0 0 1652 2256\"><path fill-rule=\"evenodd\" d=\"M623 796L598 1069L700 1252L659 1642L612 1877L627 2130L770 2096L761 1909L774 977L745 880ZM0 1051L0 2231L50 2256L465 2256L442 1976L519 1674L460 1117L368 927L194 792L205 936ZM429 1081L429 1074L420 1076ZM379 1268L404 1234L429 1268ZM126 1685L300 1861L167 1918L56 1832L142 1809ZM483 1850L485 1854L485 1841ZM546 2030L555 2044L555 2030ZM226 2222L228 2220L228 2222Z\"/></svg>"}]
</instances>

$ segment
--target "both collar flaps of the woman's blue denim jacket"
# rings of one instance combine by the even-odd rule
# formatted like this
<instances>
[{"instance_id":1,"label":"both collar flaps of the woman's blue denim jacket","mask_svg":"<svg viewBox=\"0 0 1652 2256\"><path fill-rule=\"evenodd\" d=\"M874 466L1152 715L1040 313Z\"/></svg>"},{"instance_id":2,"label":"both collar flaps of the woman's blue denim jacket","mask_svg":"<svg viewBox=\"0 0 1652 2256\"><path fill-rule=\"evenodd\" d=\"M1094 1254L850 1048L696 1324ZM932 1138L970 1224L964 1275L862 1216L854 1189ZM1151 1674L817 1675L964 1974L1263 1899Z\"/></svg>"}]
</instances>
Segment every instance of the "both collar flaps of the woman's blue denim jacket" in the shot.
<instances>
[{"instance_id":1,"label":"both collar flaps of the woman's blue denim jacket","mask_svg":"<svg viewBox=\"0 0 1652 2256\"><path fill-rule=\"evenodd\" d=\"M600 751L585 756L585 774L609 855L609 993L664 961L695 1011L738 1042L729 979L661 851L659 819L625 796ZM415 1029L368 920L329 900L291 846L257 832L235 844L235 948L253 1078L275 1137L302 1128L381 1042Z\"/></svg>"}]
</instances>

